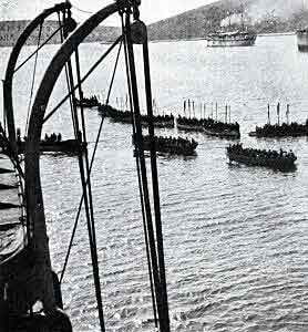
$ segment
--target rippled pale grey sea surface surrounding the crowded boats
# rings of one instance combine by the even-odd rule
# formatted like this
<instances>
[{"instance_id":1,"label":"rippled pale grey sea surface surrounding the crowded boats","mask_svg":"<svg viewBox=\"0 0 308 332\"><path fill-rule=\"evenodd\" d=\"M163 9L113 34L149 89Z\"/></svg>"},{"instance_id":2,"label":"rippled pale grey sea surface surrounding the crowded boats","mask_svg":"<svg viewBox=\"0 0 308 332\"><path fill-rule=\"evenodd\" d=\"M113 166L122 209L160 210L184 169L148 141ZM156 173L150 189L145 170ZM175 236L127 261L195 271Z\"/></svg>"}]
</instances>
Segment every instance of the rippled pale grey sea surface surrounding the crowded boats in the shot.
<instances>
[{"instance_id":1,"label":"rippled pale grey sea surface surrounding the crowded boats","mask_svg":"<svg viewBox=\"0 0 308 332\"><path fill-rule=\"evenodd\" d=\"M40 54L39 75L57 49L48 46ZM83 73L105 49L102 44L81 46ZM289 174L230 166L225 154L227 141L178 133L198 141L197 156L158 158L172 331L307 331L308 142L306 137L256 139L247 134L256 124L266 123L267 103L271 122L277 118L277 102L283 120L287 104L292 121L308 117L308 54L297 51L295 35L258 37L251 48L207 49L204 41L195 41L152 43L150 50L158 112L183 114L183 102L189 98L196 116L204 103L208 116L217 102L223 120L228 104L233 121L240 124L245 146L283 147L298 156L297 170ZM2 77L9 52L0 50ZM140 54L136 58L140 60ZM91 76L85 95L106 95L113 61L111 58ZM32 66L20 70L14 81L16 116L22 128ZM111 96L114 106L125 98L123 59L120 70ZM61 82L50 108L65 92ZM96 111L86 113L90 142L100 121ZM63 138L71 136L66 106L43 134L53 131ZM172 129L157 133L177 134ZM154 330L131 134L130 125L105 120L93 166L107 331ZM52 263L60 272L81 195L78 160L43 156L41 176ZM62 290L74 330L99 331L84 218Z\"/></svg>"}]
</instances>

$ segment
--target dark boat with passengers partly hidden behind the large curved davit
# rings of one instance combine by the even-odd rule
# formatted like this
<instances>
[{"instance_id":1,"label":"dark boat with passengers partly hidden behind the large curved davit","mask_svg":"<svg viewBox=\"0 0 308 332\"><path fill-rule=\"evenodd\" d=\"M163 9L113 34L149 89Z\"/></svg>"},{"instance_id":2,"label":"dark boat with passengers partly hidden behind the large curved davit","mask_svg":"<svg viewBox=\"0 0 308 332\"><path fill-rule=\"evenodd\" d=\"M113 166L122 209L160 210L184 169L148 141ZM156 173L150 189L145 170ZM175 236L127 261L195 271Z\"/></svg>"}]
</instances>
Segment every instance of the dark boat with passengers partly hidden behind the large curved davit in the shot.
<instances>
[{"instance_id":1,"label":"dark boat with passengers partly hidden behind the large curved davit","mask_svg":"<svg viewBox=\"0 0 308 332\"><path fill-rule=\"evenodd\" d=\"M42 153L63 153L63 154L78 154L84 151L86 143L78 142L76 139L65 139L60 142L41 141L40 152ZM25 142L18 142L18 153L23 154Z\"/></svg>"}]
</instances>

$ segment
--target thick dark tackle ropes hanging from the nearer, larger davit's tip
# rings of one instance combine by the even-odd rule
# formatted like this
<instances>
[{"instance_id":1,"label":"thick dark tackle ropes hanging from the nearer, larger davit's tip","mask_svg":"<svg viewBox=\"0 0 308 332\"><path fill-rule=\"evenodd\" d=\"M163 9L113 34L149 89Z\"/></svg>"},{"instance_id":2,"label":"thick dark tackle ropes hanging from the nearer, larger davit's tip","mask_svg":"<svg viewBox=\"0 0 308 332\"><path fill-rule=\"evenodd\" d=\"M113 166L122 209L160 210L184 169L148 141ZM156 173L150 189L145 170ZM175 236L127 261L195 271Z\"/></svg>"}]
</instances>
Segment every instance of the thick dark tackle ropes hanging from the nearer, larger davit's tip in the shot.
<instances>
[{"instance_id":1,"label":"thick dark tackle ropes hanging from the nearer, larger davit's tip","mask_svg":"<svg viewBox=\"0 0 308 332\"><path fill-rule=\"evenodd\" d=\"M137 173L141 178L141 189L142 193L142 205L145 211L146 219L146 237L148 239L148 253L150 253L150 266L152 268L155 304L158 314L158 322L161 331L170 331L170 317L168 317L168 304L167 304L167 293L166 293L166 280L165 280L165 268L164 268L164 252L163 252L163 236L162 236L162 224L161 224L161 208L160 208L160 193L158 193L158 176L157 176L157 165L156 165L156 153L154 145L154 125L153 125L153 110L152 110L152 95L151 95L151 79L150 79L150 64L148 64L148 50L147 50L147 39L143 40L143 61L144 61L144 76L145 76L145 94L147 104L147 118L148 118L148 134L151 137L151 172L153 180L153 197L154 197L154 211L155 211L155 231L152 221L152 211L150 204L148 194L148 180L146 175L146 164L144 158L144 147L143 147L143 136L142 136L142 125L141 125L141 114L138 104L138 92L136 82L136 71L135 71L135 60L133 50L133 32L130 22L131 12L126 12L125 20L125 42L127 51L127 69L130 71L131 81L131 93L134 106L134 121L135 121L135 136L134 143L136 147L136 159L137 159ZM143 24L138 21L138 9L133 8L133 17L135 22L134 28L138 28L136 24ZM138 31L138 30L136 30ZM135 35L135 34L134 34ZM138 167L140 166L140 167Z\"/></svg>"}]
</instances>

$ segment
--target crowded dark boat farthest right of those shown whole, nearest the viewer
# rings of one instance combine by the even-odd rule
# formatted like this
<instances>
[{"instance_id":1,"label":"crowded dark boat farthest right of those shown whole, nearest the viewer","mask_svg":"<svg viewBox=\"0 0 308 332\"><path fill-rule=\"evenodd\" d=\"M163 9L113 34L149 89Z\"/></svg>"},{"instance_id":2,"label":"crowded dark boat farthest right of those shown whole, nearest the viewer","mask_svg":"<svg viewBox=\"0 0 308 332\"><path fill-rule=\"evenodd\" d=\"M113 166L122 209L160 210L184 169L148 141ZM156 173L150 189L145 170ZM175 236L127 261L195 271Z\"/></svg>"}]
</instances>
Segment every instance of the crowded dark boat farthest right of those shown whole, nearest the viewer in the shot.
<instances>
[{"instance_id":1,"label":"crowded dark boat farthest right of those shown whole, nearest the viewer","mask_svg":"<svg viewBox=\"0 0 308 332\"><path fill-rule=\"evenodd\" d=\"M229 145L227 156L230 162L278 170L294 170L296 168L295 160L297 159L292 152L244 148L242 144Z\"/></svg>"}]
</instances>

